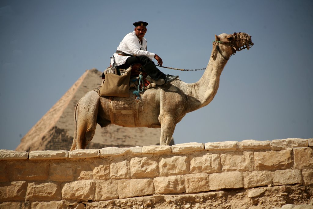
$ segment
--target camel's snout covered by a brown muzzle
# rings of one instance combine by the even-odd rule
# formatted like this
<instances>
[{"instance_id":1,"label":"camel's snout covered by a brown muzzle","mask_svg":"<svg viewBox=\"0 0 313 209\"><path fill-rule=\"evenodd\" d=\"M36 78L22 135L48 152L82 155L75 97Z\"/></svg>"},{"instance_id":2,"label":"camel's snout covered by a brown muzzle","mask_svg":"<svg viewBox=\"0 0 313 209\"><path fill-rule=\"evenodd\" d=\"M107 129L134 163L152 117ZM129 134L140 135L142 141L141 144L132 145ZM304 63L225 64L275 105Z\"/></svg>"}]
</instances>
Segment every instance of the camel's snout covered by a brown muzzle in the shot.
<instances>
[{"instance_id":1,"label":"camel's snout covered by a brown muzzle","mask_svg":"<svg viewBox=\"0 0 313 209\"><path fill-rule=\"evenodd\" d=\"M236 51L241 51L243 49L249 50L254 44L251 41L251 36L249 34L239 32L234 33L233 36L234 39L230 42L233 47L233 54L235 54Z\"/></svg>"}]
</instances>

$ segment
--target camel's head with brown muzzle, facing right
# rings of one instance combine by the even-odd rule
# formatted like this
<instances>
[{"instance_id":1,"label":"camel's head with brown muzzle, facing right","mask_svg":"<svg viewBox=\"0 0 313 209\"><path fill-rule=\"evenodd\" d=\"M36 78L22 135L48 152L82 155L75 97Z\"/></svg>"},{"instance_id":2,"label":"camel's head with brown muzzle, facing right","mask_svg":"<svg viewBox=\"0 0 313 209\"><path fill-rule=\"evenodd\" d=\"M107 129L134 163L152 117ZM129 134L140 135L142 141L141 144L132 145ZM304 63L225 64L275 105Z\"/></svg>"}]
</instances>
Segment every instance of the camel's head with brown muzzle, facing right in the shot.
<instances>
[{"instance_id":1,"label":"camel's head with brown muzzle, facing right","mask_svg":"<svg viewBox=\"0 0 313 209\"><path fill-rule=\"evenodd\" d=\"M213 45L216 45L218 48L218 43L224 45L225 51L228 51L230 55L236 53L236 51L241 51L243 49L249 50L253 46L251 41L251 36L246 33L233 33L231 34L220 34L219 36L215 35L215 41Z\"/></svg>"}]
</instances>

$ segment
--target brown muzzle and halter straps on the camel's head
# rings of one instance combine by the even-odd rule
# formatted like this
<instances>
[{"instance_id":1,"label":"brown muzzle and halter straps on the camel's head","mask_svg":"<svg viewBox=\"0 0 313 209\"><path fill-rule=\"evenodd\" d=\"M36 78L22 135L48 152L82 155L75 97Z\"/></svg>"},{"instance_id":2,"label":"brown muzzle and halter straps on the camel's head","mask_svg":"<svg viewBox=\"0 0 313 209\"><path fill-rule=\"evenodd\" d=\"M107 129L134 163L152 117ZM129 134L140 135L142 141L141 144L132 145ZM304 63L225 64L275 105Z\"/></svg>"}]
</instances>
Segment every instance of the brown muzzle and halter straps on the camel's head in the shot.
<instances>
[{"instance_id":1,"label":"brown muzzle and halter straps on the camel's head","mask_svg":"<svg viewBox=\"0 0 313 209\"><path fill-rule=\"evenodd\" d=\"M216 35L215 35L216 36ZM217 37L217 36L216 36ZM241 51L243 49L247 49L249 50L250 47L253 46L253 42L251 41L251 36L249 34L246 34L246 33L242 33L242 32L239 32L239 33L233 33L233 39L230 40L230 41L218 41L218 40L215 40L213 41L213 47L222 55L219 47L218 47L218 43L221 43L221 44L227 44L229 46L232 47L232 50L233 50L233 54L236 54L237 51ZM212 54L212 57L215 55L215 51L214 50L214 53ZM223 55L222 55L223 56ZM224 57L224 56L223 56ZM227 59L226 57L224 57L225 60L229 60Z\"/></svg>"}]
</instances>

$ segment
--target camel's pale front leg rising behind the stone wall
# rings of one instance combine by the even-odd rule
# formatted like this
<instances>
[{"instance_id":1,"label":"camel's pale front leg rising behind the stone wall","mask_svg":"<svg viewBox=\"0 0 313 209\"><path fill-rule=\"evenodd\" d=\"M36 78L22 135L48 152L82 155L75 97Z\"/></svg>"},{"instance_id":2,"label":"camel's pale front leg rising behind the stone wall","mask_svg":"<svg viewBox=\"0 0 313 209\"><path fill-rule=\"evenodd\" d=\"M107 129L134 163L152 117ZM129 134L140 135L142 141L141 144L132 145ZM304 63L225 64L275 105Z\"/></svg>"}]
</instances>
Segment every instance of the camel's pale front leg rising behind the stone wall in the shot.
<instances>
[{"instance_id":1,"label":"camel's pale front leg rising behind the stone wall","mask_svg":"<svg viewBox=\"0 0 313 209\"><path fill-rule=\"evenodd\" d=\"M159 116L159 121L161 122L160 145L169 145L176 126L175 120L170 116L163 117L162 119Z\"/></svg>"}]
</instances>

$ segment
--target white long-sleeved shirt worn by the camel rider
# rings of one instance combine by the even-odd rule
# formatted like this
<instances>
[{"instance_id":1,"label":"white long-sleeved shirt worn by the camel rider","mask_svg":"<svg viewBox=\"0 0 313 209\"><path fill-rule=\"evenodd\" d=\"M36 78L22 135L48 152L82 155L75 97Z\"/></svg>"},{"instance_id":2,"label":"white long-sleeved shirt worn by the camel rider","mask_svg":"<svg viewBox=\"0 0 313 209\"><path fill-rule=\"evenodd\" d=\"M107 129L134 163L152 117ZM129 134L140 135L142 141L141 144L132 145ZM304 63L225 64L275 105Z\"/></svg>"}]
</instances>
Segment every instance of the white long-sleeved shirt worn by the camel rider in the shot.
<instances>
[{"instance_id":1,"label":"white long-sleeved shirt worn by the camel rider","mask_svg":"<svg viewBox=\"0 0 313 209\"><path fill-rule=\"evenodd\" d=\"M124 39L121 41L120 45L117 47L117 50L122 51L129 55L145 55L150 60L154 58L154 53L147 51L147 40L145 38L142 38L142 44L141 41L138 39L138 37L135 34L135 31L132 33L127 34ZM115 65L119 66L126 62L127 56L118 55L116 53L113 54L115 58ZM111 59L111 65L113 66L113 59Z\"/></svg>"}]
</instances>

